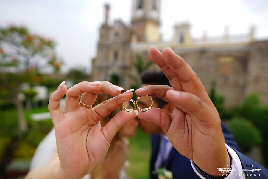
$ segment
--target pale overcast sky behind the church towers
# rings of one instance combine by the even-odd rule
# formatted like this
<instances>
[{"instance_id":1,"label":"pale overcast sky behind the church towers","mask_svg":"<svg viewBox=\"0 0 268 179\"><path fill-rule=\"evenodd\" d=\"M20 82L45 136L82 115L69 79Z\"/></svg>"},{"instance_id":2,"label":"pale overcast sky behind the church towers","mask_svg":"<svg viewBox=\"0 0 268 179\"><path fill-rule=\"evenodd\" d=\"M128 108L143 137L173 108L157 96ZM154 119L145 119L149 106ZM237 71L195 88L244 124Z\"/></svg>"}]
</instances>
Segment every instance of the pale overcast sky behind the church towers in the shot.
<instances>
[{"instance_id":1,"label":"pale overcast sky behind the church towers","mask_svg":"<svg viewBox=\"0 0 268 179\"><path fill-rule=\"evenodd\" d=\"M0 26L25 25L57 42L57 53L66 71L70 67L91 70L96 56L99 27L104 21L104 4L109 2L110 24L117 18L131 19L132 0L0 0ZM247 33L255 25L255 36L268 39L267 0L161 0L161 33L164 40L173 34L176 22L191 23L191 34L200 37Z\"/></svg>"}]
</instances>

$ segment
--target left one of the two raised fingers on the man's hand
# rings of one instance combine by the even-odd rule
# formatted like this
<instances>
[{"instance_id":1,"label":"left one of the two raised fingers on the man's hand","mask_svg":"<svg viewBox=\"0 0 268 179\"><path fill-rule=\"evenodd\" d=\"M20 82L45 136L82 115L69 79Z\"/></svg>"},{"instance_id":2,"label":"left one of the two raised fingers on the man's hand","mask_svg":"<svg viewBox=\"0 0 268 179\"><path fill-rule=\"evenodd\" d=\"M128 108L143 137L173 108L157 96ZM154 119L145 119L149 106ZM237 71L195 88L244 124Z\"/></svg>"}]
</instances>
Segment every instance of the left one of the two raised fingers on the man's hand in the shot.
<instances>
[{"instance_id":1,"label":"left one of the two raised fingers on the man's hand","mask_svg":"<svg viewBox=\"0 0 268 179\"><path fill-rule=\"evenodd\" d=\"M174 88L174 90L183 91L179 76L176 74L174 68L170 64L166 63L162 53L155 46L153 46L149 48L148 54L152 61L154 61L155 64L160 67L160 69L169 79L169 82Z\"/></svg>"}]
</instances>

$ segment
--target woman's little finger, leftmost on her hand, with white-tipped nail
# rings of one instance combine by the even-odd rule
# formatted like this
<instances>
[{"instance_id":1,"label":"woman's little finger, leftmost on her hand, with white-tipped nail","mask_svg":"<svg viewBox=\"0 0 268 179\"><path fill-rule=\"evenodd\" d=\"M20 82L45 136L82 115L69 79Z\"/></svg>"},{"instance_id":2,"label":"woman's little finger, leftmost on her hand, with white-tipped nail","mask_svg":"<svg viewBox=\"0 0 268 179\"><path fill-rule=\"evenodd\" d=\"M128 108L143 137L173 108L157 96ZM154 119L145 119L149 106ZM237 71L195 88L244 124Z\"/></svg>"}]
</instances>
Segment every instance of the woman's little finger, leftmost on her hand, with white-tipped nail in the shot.
<instances>
[{"instance_id":1,"label":"woman's little finger, leftmost on her hand, with white-tipped nail","mask_svg":"<svg viewBox=\"0 0 268 179\"><path fill-rule=\"evenodd\" d=\"M67 87L64 85L65 81L63 81L58 89L54 91L50 98L49 98L49 104L48 109L51 115L52 122L54 126L58 124L63 119L63 113L60 108L60 99L66 94Z\"/></svg>"}]
</instances>

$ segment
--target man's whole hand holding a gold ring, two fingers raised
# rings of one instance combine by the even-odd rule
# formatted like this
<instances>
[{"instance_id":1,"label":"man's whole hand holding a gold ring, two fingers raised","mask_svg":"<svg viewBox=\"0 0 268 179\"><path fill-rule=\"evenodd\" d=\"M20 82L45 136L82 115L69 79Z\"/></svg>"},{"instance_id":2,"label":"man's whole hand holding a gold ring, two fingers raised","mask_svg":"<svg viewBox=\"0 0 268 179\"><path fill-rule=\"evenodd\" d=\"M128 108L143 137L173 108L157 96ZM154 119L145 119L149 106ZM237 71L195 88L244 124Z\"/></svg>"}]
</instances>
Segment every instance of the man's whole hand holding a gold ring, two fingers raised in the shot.
<instances>
[{"instance_id":1,"label":"man's whole hand holding a gold ring, two fingers raised","mask_svg":"<svg viewBox=\"0 0 268 179\"><path fill-rule=\"evenodd\" d=\"M138 118L159 125L180 154L193 160L204 172L219 176L217 168L230 165L230 158L221 119L204 86L183 58L170 48L161 53L150 47L149 56L172 87L149 85L136 90L136 94L162 98L175 108L172 115L158 108L139 111Z\"/></svg>"}]
</instances>

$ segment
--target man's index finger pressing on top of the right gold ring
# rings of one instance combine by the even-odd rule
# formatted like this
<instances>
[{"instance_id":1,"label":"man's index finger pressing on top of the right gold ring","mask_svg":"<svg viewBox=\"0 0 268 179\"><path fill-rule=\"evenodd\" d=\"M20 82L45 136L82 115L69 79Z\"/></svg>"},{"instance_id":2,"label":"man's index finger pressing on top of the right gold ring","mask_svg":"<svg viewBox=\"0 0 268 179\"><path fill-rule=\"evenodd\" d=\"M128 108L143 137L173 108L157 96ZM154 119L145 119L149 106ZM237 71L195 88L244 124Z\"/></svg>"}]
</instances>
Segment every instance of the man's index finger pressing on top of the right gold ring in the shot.
<instances>
[{"instance_id":1,"label":"man's index finger pressing on top of the right gold ring","mask_svg":"<svg viewBox=\"0 0 268 179\"><path fill-rule=\"evenodd\" d=\"M167 85L148 85L144 88L137 89L135 92L138 96L155 96L170 103L169 99L166 97L168 90L173 90L173 88Z\"/></svg>"}]
</instances>

